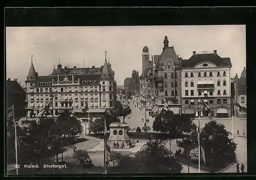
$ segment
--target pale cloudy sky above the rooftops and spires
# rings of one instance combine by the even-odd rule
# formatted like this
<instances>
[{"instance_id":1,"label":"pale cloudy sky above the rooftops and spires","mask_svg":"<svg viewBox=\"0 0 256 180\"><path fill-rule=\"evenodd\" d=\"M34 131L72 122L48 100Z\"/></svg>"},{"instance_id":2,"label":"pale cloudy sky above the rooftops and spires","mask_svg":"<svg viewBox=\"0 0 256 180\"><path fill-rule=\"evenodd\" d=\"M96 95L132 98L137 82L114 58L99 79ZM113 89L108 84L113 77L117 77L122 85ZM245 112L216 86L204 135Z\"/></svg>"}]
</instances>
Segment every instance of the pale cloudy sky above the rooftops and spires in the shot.
<instances>
[{"instance_id":1,"label":"pale cloudy sky above the rooftops and spires","mask_svg":"<svg viewBox=\"0 0 256 180\"><path fill-rule=\"evenodd\" d=\"M115 71L117 85L136 70L141 75L142 48L160 55L164 36L169 47L188 59L193 51L214 51L230 57L233 77L246 66L245 25L223 26L126 26L126 27L7 27L6 76L25 85L33 55L39 76L49 75L57 67L83 68L104 64L105 51Z\"/></svg>"}]
</instances>

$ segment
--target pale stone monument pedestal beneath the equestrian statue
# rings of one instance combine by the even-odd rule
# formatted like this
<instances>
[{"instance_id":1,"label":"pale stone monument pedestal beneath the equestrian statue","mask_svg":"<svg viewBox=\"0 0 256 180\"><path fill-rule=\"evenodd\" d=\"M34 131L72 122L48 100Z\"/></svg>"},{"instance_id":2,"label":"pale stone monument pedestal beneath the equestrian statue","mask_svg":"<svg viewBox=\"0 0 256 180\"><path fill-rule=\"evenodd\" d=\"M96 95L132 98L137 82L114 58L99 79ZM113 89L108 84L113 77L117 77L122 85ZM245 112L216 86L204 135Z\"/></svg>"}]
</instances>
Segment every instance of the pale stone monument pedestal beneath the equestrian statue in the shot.
<instances>
[{"instance_id":1,"label":"pale stone monument pedestal beneath the equestrian statue","mask_svg":"<svg viewBox=\"0 0 256 180\"><path fill-rule=\"evenodd\" d=\"M110 136L109 136L109 143L110 147L114 148L113 144L119 144L118 149L122 148L122 144L124 144L123 149L130 149L131 139L129 138L127 131L128 125L126 123L121 122L114 122L110 124ZM116 148L116 147L115 147Z\"/></svg>"}]
</instances>

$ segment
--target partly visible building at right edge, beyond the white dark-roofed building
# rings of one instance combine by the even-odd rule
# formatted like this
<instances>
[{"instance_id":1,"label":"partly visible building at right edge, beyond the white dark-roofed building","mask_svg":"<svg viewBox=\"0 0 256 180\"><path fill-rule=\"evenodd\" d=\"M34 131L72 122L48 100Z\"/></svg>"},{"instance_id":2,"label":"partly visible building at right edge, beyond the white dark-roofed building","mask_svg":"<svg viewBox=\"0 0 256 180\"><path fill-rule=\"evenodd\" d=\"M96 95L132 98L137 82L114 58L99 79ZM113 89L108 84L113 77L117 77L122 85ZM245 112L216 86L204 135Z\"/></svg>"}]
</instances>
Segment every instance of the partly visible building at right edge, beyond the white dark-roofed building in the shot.
<instances>
[{"instance_id":1,"label":"partly visible building at right edge, beyond the white dark-roofed building","mask_svg":"<svg viewBox=\"0 0 256 180\"><path fill-rule=\"evenodd\" d=\"M240 78L238 74L234 78L231 78L231 82L234 86L233 99L237 101L242 107L247 108L246 100L246 68L241 73ZM234 108L234 113L239 116L242 112L239 109Z\"/></svg>"}]
</instances>

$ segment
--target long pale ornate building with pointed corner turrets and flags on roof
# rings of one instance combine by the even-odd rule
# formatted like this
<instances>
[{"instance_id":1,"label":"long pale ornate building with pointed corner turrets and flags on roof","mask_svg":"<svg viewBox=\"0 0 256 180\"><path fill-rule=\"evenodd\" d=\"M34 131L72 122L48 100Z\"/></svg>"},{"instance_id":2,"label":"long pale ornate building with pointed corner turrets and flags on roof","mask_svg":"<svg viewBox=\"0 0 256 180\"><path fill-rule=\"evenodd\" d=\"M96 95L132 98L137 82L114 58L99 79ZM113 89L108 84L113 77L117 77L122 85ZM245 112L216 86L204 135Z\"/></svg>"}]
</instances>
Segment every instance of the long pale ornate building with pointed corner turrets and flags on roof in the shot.
<instances>
[{"instance_id":1,"label":"long pale ornate building with pointed corner turrets and flags on roof","mask_svg":"<svg viewBox=\"0 0 256 180\"><path fill-rule=\"evenodd\" d=\"M38 76L32 58L26 82L27 116L35 116L47 102L53 115L68 109L82 113L87 106L93 112L112 109L116 104L115 72L104 61L100 68L65 68L59 63L51 75ZM52 103L53 102L53 103ZM52 111L52 110L51 110ZM85 113L85 112L84 112Z\"/></svg>"}]
</instances>

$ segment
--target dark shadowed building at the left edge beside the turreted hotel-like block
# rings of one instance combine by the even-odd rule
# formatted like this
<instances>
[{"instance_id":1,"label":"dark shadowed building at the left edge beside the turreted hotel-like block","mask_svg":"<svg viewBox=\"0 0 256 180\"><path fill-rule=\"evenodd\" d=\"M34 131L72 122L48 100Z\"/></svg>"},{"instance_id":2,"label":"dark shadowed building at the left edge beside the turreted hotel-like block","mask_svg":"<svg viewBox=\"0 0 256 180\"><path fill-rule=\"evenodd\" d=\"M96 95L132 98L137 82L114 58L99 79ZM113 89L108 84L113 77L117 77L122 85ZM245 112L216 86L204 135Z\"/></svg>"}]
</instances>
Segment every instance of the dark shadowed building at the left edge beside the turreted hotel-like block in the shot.
<instances>
[{"instance_id":1,"label":"dark shadowed building at the left edge beside the turreted hotel-like block","mask_svg":"<svg viewBox=\"0 0 256 180\"><path fill-rule=\"evenodd\" d=\"M17 79L13 81L9 78L6 81L6 106L9 109L14 105L14 117L22 118L26 116L26 92L17 82Z\"/></svg>"}]
</instances>

